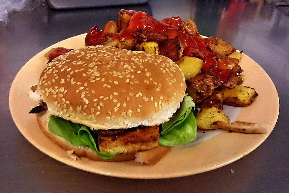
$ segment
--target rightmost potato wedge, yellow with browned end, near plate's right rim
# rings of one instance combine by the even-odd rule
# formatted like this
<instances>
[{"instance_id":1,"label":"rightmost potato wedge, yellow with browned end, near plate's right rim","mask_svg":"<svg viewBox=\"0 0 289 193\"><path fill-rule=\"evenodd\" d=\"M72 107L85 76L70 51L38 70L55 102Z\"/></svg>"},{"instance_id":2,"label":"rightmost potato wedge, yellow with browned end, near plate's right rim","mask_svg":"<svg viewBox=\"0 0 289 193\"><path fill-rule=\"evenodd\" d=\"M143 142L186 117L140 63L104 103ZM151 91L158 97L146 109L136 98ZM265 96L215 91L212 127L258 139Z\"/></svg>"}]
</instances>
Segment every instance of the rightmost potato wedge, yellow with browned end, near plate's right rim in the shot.
<instances>
[{"instance_id":1,"label":"rightmost potato wedge, yellow with browned end, near plate's right rim","mask_svg":"<svg viewBox=\"0 0 289 193\"><path fill-rule=\"evenodd\" d=\"M245 107L253 103L258 96L255 89L238 85L233 89L222 87L223 103L229 106Z\"/></svg>"}]
</instances>

